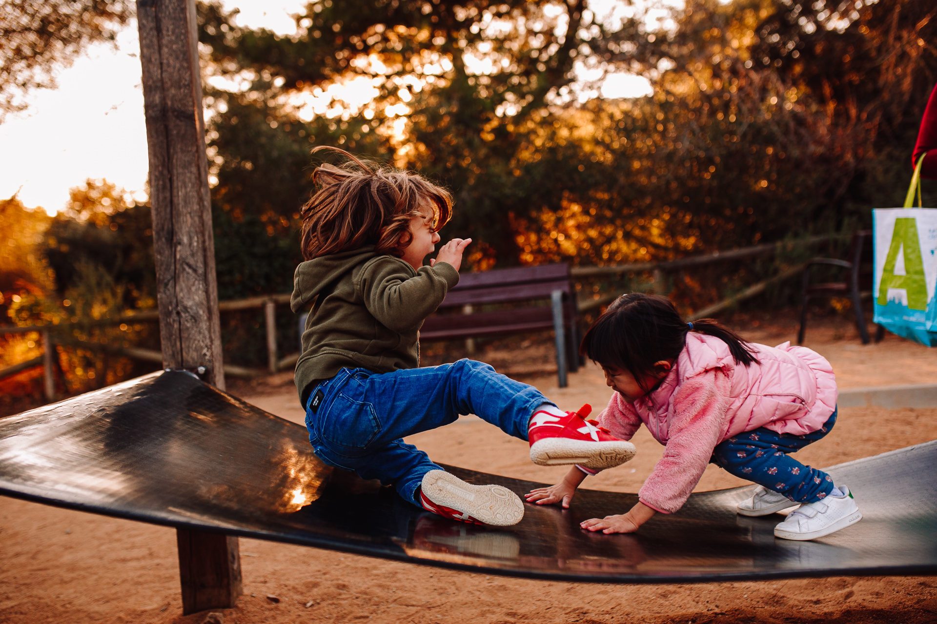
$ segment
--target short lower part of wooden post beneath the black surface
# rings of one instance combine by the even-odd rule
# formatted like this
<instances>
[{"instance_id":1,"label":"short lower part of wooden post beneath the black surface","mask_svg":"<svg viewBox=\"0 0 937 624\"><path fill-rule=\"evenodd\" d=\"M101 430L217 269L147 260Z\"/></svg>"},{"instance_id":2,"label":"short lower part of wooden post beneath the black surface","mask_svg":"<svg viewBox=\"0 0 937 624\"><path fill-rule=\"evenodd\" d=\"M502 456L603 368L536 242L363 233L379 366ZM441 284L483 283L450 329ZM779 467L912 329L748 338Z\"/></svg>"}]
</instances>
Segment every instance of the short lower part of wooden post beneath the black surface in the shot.
<instances>
[{"instance_id":1,"label":"short lower part of wooden post beneath the black surface","mask_svg":"<svg viewBox=\"0 0 937 624\"><path fill-rule=\"evenodd\" d=\"M182 613L231 609L241 595L241 554L236 537L176 529Z\"/></svg>"}]
</instances>

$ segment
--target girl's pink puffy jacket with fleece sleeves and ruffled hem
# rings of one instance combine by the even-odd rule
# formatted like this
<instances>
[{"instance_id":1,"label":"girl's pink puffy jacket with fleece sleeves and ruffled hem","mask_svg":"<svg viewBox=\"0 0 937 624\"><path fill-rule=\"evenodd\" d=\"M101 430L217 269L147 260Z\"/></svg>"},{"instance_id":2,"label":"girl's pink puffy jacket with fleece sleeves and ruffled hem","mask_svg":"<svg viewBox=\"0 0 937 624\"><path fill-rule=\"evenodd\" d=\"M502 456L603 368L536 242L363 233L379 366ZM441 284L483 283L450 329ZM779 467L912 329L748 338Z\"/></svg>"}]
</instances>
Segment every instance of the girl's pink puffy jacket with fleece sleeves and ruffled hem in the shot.
<instances>
[{"instance_id":1,"label":"girl's pink puffy jacket with fleece sleeves and ruffled hem","mask_svg":"<svg viewBox=\"0 0 937 624\"><path fill-rule=\"evenodd\" d=\"M836 377L823 356L784 342L750 343L760 364L736 364L728 345L696 332L661 385L629 403L617 392L599 422L631 440L644 423L664 444L663 457L638 496L670 514L690 497L716 444L759 427L804 435L823 427L836 409Z\"/></svg>"}]
</instances>

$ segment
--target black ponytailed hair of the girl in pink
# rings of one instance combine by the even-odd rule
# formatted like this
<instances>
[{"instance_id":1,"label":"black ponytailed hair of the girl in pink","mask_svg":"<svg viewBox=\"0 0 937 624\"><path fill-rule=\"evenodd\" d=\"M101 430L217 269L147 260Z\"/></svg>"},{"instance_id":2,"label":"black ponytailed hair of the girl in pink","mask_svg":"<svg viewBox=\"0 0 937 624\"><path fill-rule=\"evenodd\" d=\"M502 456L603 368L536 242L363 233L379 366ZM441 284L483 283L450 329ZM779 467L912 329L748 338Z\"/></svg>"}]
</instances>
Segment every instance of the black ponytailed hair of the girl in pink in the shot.
<instances>
[{"instance_id":1,"label":"black ponytailed hair of the girl in pink","mask_svg":"<svg viewBox=\"0 0 937 624\"><path fill-rule=\"evenodd\" d=\"M628 370L640 383L655 362L680 355L691 331L725 342L739 364L758 362L748 342L728 327L703 318L691 329L670 299L643 293L622 295L608 306L588 328L579 354L603 367Z\"/></svg>"}]
</instances>

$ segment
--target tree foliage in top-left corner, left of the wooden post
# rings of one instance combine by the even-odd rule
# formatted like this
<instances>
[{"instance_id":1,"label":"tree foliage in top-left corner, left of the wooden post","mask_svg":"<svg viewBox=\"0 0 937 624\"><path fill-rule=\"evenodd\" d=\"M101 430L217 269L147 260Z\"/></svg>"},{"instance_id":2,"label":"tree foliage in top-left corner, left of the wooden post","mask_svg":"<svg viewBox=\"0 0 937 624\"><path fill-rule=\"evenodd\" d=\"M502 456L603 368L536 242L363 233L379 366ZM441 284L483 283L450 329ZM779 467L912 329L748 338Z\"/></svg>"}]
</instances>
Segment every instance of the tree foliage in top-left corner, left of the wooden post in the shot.
<instances>
[{"instance_id":1,"label":"tree foliage in top-left corner, left of the wooden post","mask_svg":"<svg viewBox=\"0 0 937 624\"><path fill-rule=\"evenodd\" d=\"M55 86L55 69L112 40L134 16L130 0L4 0L0 10L0 123L23 96Z\"/></svg>"}]
</instances>

